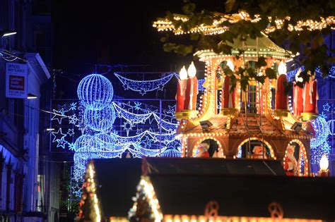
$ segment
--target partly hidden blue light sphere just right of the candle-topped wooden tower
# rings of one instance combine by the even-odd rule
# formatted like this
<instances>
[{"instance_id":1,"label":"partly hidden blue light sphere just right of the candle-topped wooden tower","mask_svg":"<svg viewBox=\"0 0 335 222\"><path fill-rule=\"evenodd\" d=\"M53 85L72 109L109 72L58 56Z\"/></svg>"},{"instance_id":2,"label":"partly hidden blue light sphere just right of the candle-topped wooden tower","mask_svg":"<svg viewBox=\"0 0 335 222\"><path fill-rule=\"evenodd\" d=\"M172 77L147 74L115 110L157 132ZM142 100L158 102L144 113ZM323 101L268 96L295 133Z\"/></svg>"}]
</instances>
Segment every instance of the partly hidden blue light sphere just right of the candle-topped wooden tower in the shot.
<instances>
[{"instance_id":1,"label":"partly hidden blue light sphere just right of the candle-topped wooden tower","mask_svg":"<svg viewBox=\"0 0 335 222\"><path fill-rule=\"evenodd\" d=\"M319 147L326 142L329 135L329 125L326 120L322 117L318 117L314 121L311 121L313 129L315 130L315 138L310 140L311 147Z\"/></svg>"}]
</instances>

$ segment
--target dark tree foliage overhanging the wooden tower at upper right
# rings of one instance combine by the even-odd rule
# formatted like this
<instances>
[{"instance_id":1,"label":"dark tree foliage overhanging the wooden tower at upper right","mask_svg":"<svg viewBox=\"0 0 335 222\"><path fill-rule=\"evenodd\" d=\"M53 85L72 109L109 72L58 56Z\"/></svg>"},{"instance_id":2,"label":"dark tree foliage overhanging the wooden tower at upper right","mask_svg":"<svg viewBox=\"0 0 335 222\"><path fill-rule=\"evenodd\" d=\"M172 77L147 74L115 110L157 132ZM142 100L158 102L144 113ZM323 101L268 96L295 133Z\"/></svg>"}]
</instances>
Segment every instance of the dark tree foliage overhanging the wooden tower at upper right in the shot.
<instances>
[{"instance_id":1,"label":"dark tree foliage overhanging the wooden tower at upper right","mask_svg":"<svg viewBox=\"0 0 335 222\"><path fill-rule=\"evenodd\" d=\"M211 3L208 3L211 4ZM222 14L233 14L245 11L249 13L250 18L259 16L257 23L250 20L240 20L237 23L225 21L222 26L228 26L229 29L219 35L204 35L196 32L187 34L187 44L173 42L172 35L166 34L161 39L165 42L163 48L165 51L172 51L177 54L187 55L201 49L213 49L216 53L223 52L230 54L233 39L245 41L247 38L256 39L262 36L262 32L269 26L276 26L276 19L283 21L281 29L267 33L268 37L278 46L290 51L294 62L298 66L305 66L300 76L307 81L308 70L315 70L319 67L324 77L328 75L332 63L335 59L331 56L331 49L327 47L325 38L331 34L331 28L334 23L323 27L321 30L310 30L307 26L302 26L301 30L288 31L290 24L297 24L299 21L321 21L322 18L333 16L335 11L335 1L312 1L312 0L227 0L224 8L218 8L218 11L208 11L206 9L198 10L196 4L189 0L184 0L182 13L188 20L176 20L173 13L167 12L165 18L170 20L175 27L180 27L184 33L201 24L211 25L214 20L218 20ZM243 49L240 49L242 54ZM265 78L276 78L276 70L266 68L263 76L258 76L257 68L265 66L264 58L259 58L255 68L240 68L235 71L235 75L240 75L237 80L240 81L242 88L245 88L250 78L255 78L264 82ZM230 72L230 75L233 75Z\"/></svg>"}]
</instances>

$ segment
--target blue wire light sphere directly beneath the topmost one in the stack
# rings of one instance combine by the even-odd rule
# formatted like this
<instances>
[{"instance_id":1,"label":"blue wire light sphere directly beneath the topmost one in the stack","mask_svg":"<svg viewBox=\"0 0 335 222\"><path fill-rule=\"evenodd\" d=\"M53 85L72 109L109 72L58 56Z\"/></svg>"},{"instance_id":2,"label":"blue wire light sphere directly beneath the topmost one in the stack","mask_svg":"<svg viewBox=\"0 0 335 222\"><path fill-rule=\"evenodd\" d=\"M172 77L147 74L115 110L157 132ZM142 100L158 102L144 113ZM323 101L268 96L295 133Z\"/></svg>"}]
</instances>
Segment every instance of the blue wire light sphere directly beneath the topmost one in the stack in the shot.
<instances>
[{"instance_id":1,"label":"blue wire light sphere directly beneath the topmost one in the stack","mask_svg":"<svg viewBox=\"0 0 335 222\"><path fill-rule=\"evenodd\" d=\"M84 122L91 130L110 132L116 116L114 107L107 106L99 110L85 109L83 118Z\"/></svg>"}]
</instances>

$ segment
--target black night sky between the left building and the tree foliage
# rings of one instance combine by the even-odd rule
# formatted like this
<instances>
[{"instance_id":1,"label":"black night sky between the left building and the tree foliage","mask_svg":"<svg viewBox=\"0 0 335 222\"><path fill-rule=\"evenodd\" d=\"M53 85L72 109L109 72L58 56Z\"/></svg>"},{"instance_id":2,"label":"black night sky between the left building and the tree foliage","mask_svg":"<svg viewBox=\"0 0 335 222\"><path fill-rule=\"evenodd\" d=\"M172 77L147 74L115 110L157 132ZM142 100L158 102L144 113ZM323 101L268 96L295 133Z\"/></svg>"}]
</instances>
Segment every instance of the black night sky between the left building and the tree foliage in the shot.
<instances>
[{"instance_id":1,"label":"black night sky between the left building and the tree foliage","mask_svg":"<svg viewBox=\"0 0 335 222\"><path fill-rule=\"evenodd\" d=\"M208 1L204 0L195 2L199 8L208 5ZM211 1L211 9L222 8L223 1L213 2L216 1ZM164 52L160 42L163 33L152 27L153 21L164 17L166 11L182 13L182 6L182 0L54 0L53 67L65 71L57 76L57 97L76 98L78 81L93 73L95 65L112 65L112 72L105 75L112 80L113 71L179 72L182 65L196 61L192 55L178 56ZM196 63L196 66L204 68L201 63ZM97 73L106 71L101 66L97 67ZM116 83L113 82L114 87L117 87ZM171 93L167 97L174 95Z\"/></svg>"}]
</instances>

